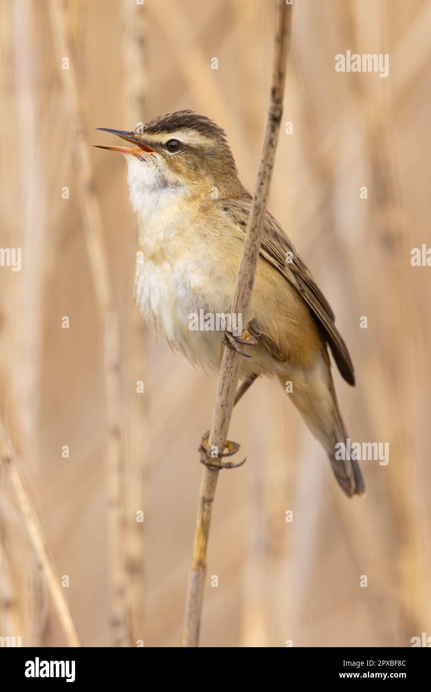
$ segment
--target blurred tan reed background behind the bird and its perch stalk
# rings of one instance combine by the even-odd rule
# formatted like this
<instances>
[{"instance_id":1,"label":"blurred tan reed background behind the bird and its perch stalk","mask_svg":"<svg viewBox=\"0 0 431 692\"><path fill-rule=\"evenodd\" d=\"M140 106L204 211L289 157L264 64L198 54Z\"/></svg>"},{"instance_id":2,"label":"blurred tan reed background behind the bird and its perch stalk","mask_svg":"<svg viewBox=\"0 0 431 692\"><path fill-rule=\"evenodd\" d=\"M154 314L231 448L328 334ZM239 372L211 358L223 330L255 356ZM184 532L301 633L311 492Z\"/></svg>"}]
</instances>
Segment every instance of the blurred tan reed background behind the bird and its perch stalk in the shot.
<instances>
[{"instance_id":1,"label":"blurred tan reed background behind the bird and its perch stalk","mask_svg":"<svg viewBox=\"0 0 431 692\"><path fill-rule=\"evenodd\" d=\"M431 4L294 4L293 134L269 209L349 345L356 388L333 370L349 434L388 441L390 462L363 462L367 496L347 500L286 394L253 385L229 435L247 464L219 480L201 645L410 646L431 635L431 269L410 264L431 245ZM90 148L106 141L94 130L195 109L227 131L252 190L274 10L0 0L0 246L22 248L20 272L0 268L0 413L84 646L178 645L216 388L137 318L126 165ZM336 73L347 50L388 53L389 76ZM0 635L59 646L0 471Z\"/></svg>"}]
</instances>

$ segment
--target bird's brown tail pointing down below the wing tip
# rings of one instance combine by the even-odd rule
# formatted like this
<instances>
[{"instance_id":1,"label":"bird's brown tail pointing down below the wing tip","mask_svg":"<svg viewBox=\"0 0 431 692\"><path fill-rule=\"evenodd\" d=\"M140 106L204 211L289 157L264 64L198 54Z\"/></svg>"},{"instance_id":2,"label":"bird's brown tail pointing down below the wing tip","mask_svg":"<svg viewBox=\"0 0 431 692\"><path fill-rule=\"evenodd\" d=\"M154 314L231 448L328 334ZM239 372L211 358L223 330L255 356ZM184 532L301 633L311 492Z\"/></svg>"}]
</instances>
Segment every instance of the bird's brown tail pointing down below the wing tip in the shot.
<instances>
[{"instance_id":1,"label":"bird's brown tail pointing down below the wing tip","mask_svg":"<svg viewBox=\"0 0 431 692\"><path fill-rule=\"evenodd\" d=\"M289 397L310 432L327 451L332 471L345 494L349 498L353 495L363 495L365 483L356 458L352 458L354 454L351 452L350 458L343 459L347 456L347 434L338 408L329 364L326 367L321 366L320 362L319 372L316 370L309 373L307 379L302 377L297 388L294 379L293 391ZM285 384L283 381L282 383Z\"/></svg>"}]
</instances>

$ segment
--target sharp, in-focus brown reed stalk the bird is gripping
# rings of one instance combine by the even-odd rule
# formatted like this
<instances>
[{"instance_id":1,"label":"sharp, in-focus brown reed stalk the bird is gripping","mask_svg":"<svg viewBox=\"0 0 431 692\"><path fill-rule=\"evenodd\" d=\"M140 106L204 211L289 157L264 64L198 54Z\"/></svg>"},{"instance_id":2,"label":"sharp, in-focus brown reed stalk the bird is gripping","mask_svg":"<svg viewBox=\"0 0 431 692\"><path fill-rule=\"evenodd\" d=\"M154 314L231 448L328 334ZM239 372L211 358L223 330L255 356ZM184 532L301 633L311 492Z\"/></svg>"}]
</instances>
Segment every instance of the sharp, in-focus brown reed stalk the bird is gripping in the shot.
<instances>
[{"instance_id":1,"label":"sharp, in-focus brown reed stalk the bird is gripping","mask_svg":"<svg viewBox=\"0 0 431 692\"><path fill-rule=\"evenodd\" d=\"M251 205L247 233L235 293L231 307L232 313L242 313L243 324L247 320L251 306L254 277L260 250L263 223L267 210L269 188L271 185L274 158L280 132L282 103L285 93L287 54L290 46L292 7L284 0L278 0L276 32L274 37L274 64L271 79L270 101L265 133L262 141L260 165L256 188ZM240 369L240 355L231 349L224 349L218 392L215 399L209 445L224 448L232 409L236 396L236 385ZM204 579L207 565L207 546L211 521L211 507L215 498L219 471L204 468L200 485L198 518L193 544L193 558L189 575L189 589L186 599L186 613L182 631L182 646L193 647L199 644L200 617L204 592Z\"/></svg>"}]
</instances>

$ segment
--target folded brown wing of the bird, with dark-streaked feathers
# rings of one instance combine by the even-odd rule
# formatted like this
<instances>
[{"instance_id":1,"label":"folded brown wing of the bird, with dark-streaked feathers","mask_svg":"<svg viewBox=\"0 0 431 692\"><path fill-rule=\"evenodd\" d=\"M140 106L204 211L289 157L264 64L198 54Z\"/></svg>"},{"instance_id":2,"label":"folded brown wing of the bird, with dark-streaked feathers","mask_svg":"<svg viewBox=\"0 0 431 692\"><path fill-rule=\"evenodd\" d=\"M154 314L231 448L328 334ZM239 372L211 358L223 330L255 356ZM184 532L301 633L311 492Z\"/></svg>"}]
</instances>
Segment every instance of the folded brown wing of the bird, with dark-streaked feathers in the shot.
<instances>
[{"instance_id":1,"label":"folded brown wing of the bird, with dark-streaked feathers","mask_svg":"<svg viewBox=\"0 0 431 692\"><path fill-rule=\"evenodd\" d=\"M245 236L251 202L223 200L223 210ZM344 379L354 385L354 368L341 334L334 324L335 316L307 266L300 259L289 238L274 217L267 213L263 227L260 255L272 264L303 297L329 344Z\"/></svg>"}]
</instances>

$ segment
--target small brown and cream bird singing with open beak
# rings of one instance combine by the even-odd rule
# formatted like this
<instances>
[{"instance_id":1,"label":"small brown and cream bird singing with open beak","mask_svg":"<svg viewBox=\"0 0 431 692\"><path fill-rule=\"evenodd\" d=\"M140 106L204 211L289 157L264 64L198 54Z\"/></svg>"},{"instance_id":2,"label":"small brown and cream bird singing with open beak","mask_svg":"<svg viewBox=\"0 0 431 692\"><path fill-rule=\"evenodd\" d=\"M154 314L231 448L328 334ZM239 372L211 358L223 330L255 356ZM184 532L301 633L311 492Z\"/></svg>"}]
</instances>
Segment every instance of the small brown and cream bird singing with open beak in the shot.
<instances>
[{"instance_id":1,"label":"small brown and cream bird singing with open beak","mask_svg":"<svg viewBox=\"0 0 431 692\"><path fill-rule=\"evenodd\" d=\"M286 391L290 383L289 399L325 449L338 484L348 497L362 495L358 462L336 453L347 433L328 349L349 385L355 383L352 359L332 308L269 212L247 330L191 329L191 316L202 311L229 313L251 210L251 194L240 181L224 130L188 109L133 131L97 129L133 145L95 146L126 159L138 221L134 294L140 314L207 372L220 371L223 349L229 347L245 356L240 364L245 388L258 376L278 379Z\"/></svg>"}]
</instances>

